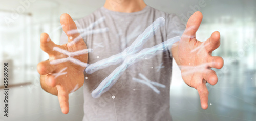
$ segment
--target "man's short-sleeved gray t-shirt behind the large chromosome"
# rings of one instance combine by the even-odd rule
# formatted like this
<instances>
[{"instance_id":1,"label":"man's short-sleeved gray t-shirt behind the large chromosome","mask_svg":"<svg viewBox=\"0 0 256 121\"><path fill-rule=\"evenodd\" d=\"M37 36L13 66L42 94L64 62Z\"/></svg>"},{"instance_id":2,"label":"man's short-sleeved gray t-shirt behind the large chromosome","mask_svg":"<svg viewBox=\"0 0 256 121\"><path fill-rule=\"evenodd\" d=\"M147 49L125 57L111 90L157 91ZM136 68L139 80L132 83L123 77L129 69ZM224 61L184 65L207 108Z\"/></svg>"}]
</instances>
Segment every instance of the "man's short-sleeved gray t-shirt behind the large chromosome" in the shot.
<instances>
[{"instance_id":1,"label":"man's short-sleeved gray t-shirt behind the large chromosome","mask_svg":"<svg viewBox=\"0 0 256 121\"><path fill-rule=\"evenodd\" d=\"M144 49L169 38L181 36L185 26L175 14L168 14L150 6L133 13L115 12L101 7L78 19L78 29L87 31L80 32L87 48L93 49L93 52L88 54L88 64L121 53L159 17L165 19L165 25L155 31L155 35L144 44ZM62 34L60 44L64 43L67 43L67 36ZM83 120L172 120L169 111L172 75L170 50L133 64L108 92L99 98L93 98L92 91L121 64L100 69L92 74L84 72ZM164 85L165 88L149 84L139 74L149 81ZM136 82L133 78L143 80L147 84ZM154 87L160 91L159 94L152 89Z\"/></svg>"}]
</instances>

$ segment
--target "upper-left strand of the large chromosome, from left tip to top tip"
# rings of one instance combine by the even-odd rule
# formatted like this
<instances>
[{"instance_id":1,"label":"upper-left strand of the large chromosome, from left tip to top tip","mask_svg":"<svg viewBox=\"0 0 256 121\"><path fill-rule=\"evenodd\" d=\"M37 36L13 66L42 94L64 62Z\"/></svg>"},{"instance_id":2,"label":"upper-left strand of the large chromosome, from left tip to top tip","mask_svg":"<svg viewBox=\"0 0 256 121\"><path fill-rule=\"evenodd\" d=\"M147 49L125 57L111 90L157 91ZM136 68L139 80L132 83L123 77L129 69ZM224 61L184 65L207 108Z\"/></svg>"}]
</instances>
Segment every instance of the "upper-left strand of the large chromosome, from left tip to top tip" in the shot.
<instances>
[{"instance_id":1,"label":"upper-left strand of the large chromosome, from left tip to top tip","mask_svg":"<svg viewBox=\"0 0 256 121\"><path fill-rule=\"evenodd\" d=\"M113 55L109 58L102 59L94 64L91 64L86 68L86 73L92 74L97 70L118 64L122 62L127 56L135 54L136 52L141 50L141 48L148 41L148 39L154 36L159 27L163 26L164 24L165 20L163 17L156 19L156 21L148 26L145 31L136 38L131 46L127 47L123 52L119 54Z\"/></svg>"}]
</instances>

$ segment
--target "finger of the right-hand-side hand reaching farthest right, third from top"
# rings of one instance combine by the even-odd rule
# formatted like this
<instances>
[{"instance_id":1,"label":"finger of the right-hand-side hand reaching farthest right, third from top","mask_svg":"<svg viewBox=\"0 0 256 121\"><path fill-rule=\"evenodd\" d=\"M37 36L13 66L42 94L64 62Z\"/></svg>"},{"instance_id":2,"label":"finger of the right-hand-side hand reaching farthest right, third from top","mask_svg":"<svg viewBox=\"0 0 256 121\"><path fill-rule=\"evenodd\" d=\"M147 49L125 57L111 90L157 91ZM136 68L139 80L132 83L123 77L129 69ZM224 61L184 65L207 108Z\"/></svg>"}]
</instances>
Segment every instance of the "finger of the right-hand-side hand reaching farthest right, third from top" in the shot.
<instances>
[{"instance_id":1,"label":"finger of the right-hand-side hand reaching farthest right, third from top","mask_svg":"<svg viewBox=\"0 0 256 121\"><path fill-rule=\"evenodd\" d=\"M221 69L224 65L223 58L219 56L210 56L207 61L211 68Z\"/></svg>"}]
</instances>

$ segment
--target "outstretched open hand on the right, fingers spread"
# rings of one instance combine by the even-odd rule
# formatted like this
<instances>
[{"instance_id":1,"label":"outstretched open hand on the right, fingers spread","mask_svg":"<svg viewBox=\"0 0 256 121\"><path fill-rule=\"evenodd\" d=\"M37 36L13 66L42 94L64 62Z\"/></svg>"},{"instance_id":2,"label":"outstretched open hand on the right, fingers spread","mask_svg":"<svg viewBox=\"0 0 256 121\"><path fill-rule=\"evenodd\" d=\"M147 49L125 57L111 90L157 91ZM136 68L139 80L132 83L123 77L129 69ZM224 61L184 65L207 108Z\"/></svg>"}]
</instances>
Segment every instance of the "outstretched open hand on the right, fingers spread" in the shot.
<instances>
[{"instance_id":1,"label":"outstretched open hand on the right, fingers spread","mask_svg":"<svg viewBox=\"0 0 256 121\"><path fill-rule=\"evenodd\" d=\"M195 12L188 20L186 29L178 46L178 58L184 82L197 89L201 107L208 108L208 90L206 82L215 85L218 82L216 72L211 68L221 69L224 61L211 53L220 46L220 33L215 31L205 42L196 39L196 32L202 22L201 12Z\"/></svg>"}]
</instances>

